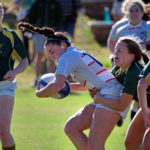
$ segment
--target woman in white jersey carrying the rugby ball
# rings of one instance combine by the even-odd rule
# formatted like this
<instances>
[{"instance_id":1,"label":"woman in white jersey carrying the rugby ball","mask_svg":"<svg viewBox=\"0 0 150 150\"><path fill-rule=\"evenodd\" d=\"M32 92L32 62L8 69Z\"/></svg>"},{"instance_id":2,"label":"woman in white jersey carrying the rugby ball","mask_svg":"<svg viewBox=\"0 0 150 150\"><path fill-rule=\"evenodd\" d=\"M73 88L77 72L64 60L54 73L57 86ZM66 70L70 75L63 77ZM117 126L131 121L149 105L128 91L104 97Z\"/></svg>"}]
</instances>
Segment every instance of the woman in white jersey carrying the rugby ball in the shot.
<instances>
[{"instance_id":1,"label":"woman in white jersey carrying the rugby ball","mask_svg":"<svg viewBox=\"0 0 150 150\"><path fill-rule=\"evenodd\" d=\"M50 82L43 89L37 87L36 95L38 97L51 96L60 91L67 75L72 73L82 86L74 83L71 89L95 89L100 90L105 97L120 98L122 85L93 56L72 46L67 34L54 32L52 28L37 28L28 23L20 23L19 28L45 35L47 37L45 49L49 57L58 59L56 80ZM107 137L118 120L126 117L129 105L128 103L123 111L114 111L104 105L90 103L67 121L65 133L77 149L104 150ZM83 133L88 128L91 128L89 137Z\"/></svg>"}]
</instances>

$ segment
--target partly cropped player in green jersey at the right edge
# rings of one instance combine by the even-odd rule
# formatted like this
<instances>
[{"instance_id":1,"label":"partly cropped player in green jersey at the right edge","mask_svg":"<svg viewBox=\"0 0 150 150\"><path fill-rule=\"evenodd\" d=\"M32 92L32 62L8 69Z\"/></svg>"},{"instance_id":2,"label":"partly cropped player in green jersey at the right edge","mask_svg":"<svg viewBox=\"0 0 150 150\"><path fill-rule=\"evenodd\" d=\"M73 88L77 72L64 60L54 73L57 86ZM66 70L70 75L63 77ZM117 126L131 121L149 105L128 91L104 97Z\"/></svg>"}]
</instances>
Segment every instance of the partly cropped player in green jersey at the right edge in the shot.
<instances>
[{"instance_id":1,"label":"partly cropped player in green jersey at the right edge","mask_svg":"<svg viewBox=\"0 0 150 150\"><path fill-rule=\"evenodd\" d=\"M143 140L144 150L150 149L150 61L140 74L138 98L141 108L131 122L127 134L127 150L139 150ZM135 140L136 139L136 140Z\"/></svg>"}]
</instances>

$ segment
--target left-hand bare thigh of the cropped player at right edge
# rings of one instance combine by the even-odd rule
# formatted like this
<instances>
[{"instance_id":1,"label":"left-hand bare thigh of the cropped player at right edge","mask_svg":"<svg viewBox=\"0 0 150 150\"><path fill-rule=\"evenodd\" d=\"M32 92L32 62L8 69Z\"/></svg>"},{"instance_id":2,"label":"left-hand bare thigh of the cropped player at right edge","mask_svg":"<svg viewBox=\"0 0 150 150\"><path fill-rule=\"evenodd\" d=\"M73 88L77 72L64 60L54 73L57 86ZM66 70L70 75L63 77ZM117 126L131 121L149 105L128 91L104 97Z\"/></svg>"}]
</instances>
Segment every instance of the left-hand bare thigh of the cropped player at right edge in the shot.
<instances>
[{"instance_id":1,"label":"left-hand bare thigh of the cropped player at right edge","mask_svg":"<svg viewBox=\"0 0 150 150\"><path fill-rule=\"evenodd\" d=\"M131 121L125 139L126 150L139 150L145 132L144 119L141 109Z\"/></svg>"}]
</instances>

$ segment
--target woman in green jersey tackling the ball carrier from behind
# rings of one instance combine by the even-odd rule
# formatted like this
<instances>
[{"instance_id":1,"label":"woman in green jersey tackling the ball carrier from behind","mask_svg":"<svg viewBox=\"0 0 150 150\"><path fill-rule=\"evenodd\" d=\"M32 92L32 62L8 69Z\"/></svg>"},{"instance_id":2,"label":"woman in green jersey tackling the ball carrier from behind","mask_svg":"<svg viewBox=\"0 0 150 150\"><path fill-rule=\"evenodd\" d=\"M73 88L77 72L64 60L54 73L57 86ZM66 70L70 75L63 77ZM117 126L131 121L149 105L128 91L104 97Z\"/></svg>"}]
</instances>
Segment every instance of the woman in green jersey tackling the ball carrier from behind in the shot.
<instances>
[{"instance_id":1,"label":"woman in green jersey tackling the ball carrier from behind","mask_svg":"<svg viewBox=\"0 0 150 150\"><path fill-rule=\"evenodd\" d=\"M140 45L133 40L131 37L122 37L118 40L115 52L114 52L114 62L115 67L112 69L112 73L115 75L117 80L123 85L120 99L110 99L100 92L97 92L94 97L95 103L101 103L111 109L124 111L129 103L134 99L137 99L137 84L139 81L139 74L143 69L143 66L139 63L141 56L143 55L145 63L148 62L148 57L142 54ZM92 93L93 94L93 93ZM97 131L95 131L97 132ZM94 137L94 132L92 133ZM127 136L128 137L128 136ZM135 139L130 139L137 141ZM128 147L128 138L126 138L125 145ZM137 150L132 148L132 150Z\"/></svg>"}]
</instances>

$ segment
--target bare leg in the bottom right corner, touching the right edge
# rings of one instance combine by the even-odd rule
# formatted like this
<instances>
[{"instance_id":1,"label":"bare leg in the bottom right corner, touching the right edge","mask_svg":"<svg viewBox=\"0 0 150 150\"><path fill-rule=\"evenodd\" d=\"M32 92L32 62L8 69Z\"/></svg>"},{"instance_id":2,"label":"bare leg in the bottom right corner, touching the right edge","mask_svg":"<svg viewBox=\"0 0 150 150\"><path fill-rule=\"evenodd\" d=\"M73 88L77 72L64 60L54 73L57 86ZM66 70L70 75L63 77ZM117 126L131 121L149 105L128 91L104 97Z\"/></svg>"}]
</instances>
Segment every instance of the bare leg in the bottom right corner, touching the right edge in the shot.
<instances>
[{"instance_id":1,"label":"bare leg in the bottom right corner, touching the right edge","mask_svg":"<svg viewBox=\"0 0 150 150\"><path fill-rule=\"evenodd\" d=\"M143 150L149 149L150 149L150 128L146 130L143 138Z\"/></svg>"}]
</instances>

